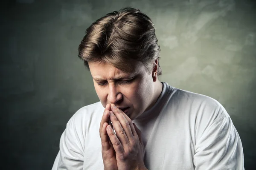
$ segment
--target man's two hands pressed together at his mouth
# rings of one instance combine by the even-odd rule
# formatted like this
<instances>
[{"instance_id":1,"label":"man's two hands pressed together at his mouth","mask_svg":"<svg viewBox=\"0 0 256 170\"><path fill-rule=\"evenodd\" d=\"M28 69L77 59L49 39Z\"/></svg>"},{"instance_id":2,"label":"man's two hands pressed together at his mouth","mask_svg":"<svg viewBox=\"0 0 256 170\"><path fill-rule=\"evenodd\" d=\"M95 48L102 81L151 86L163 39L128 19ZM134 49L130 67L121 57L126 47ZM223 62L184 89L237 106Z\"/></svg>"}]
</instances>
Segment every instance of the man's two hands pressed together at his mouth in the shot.
<instances>
[{"instance_id":1,"label":"man's two hands pressed together at his mouth","mask_svg":"<svg viewBox=\"0 0 256 170\"><path fill-rule=\"evenodd\" d=\"M111 125L111 120L116 134ZM140 130L114 104L107 104L100 122L104 170L146 170Z\"/></svg>"}]
</instances>

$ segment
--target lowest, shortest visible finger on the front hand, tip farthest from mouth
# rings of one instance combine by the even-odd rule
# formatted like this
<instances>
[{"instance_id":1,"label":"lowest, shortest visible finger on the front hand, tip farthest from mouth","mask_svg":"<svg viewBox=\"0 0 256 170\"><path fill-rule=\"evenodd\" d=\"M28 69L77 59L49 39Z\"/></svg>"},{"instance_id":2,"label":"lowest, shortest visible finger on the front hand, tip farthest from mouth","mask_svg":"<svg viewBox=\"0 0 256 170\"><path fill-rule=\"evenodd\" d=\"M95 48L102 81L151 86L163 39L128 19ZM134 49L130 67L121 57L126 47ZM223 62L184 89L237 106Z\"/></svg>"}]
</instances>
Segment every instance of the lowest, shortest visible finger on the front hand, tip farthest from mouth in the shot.
<instances>
[{"instance_id":1,"label":"lowest, shortest visible finger on the front hand, tip farthest from mouth","mask_svg":"<svg viewBox=\"0 0 256 170\"><path fill-rule=\"evenodd\" d=\"M116 153L124 153L125 150L110 125L107 126L107 133Z\"/></svg>"}]
</instances>

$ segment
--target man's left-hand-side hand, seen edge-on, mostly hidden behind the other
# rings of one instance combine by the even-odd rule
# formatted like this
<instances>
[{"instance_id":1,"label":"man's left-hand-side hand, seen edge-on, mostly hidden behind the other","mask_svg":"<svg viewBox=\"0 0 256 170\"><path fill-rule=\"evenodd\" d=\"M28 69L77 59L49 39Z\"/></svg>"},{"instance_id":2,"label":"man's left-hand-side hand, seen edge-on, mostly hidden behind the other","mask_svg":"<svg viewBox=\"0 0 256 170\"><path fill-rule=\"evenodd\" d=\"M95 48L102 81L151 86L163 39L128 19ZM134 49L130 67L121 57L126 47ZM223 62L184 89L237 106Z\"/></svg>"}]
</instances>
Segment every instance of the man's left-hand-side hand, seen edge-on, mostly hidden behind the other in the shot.
<instances>
[{"instance_id":1,"label":"man's left-hand-side hand, seen edge-on, mostly hidden behind the other","mask_svg":"<svg viewBox=\"0 0 256 170\"><path fill-rule=\"evenodd\" d=\"M104 170L118 170L116 164L116 153L106 130L110 115L109 111L111 111L111 107L110 104L107 104L99 127L99 135L102 142L102 159Z\"/></svg>"}]
</instances>

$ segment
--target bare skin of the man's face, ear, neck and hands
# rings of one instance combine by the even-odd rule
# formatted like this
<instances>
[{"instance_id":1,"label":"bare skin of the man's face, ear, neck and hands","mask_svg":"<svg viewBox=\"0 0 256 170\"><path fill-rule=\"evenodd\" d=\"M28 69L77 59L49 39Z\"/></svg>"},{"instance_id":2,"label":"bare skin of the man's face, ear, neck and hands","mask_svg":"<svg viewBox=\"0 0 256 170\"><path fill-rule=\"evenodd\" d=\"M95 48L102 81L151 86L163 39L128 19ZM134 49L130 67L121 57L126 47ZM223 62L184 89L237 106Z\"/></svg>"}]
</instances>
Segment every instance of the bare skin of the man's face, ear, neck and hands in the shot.
<instances>
[{"instance_id":1,"label":"bare skin of the man's face, ear, neck and hands","mask_svg":"<svg viewBox=\"0 0 256 170\"><path fill-rule=\"evenodd\" d=\"M150 73L140 62L125 73L106 62L89 62L96 93L105 107L99 129L105 170L146 170L141 131L132 120L150 109L160 96L157 63ZM130 107L127 114L119 109L124 107Z\"/></svg>"}]
</instances>

